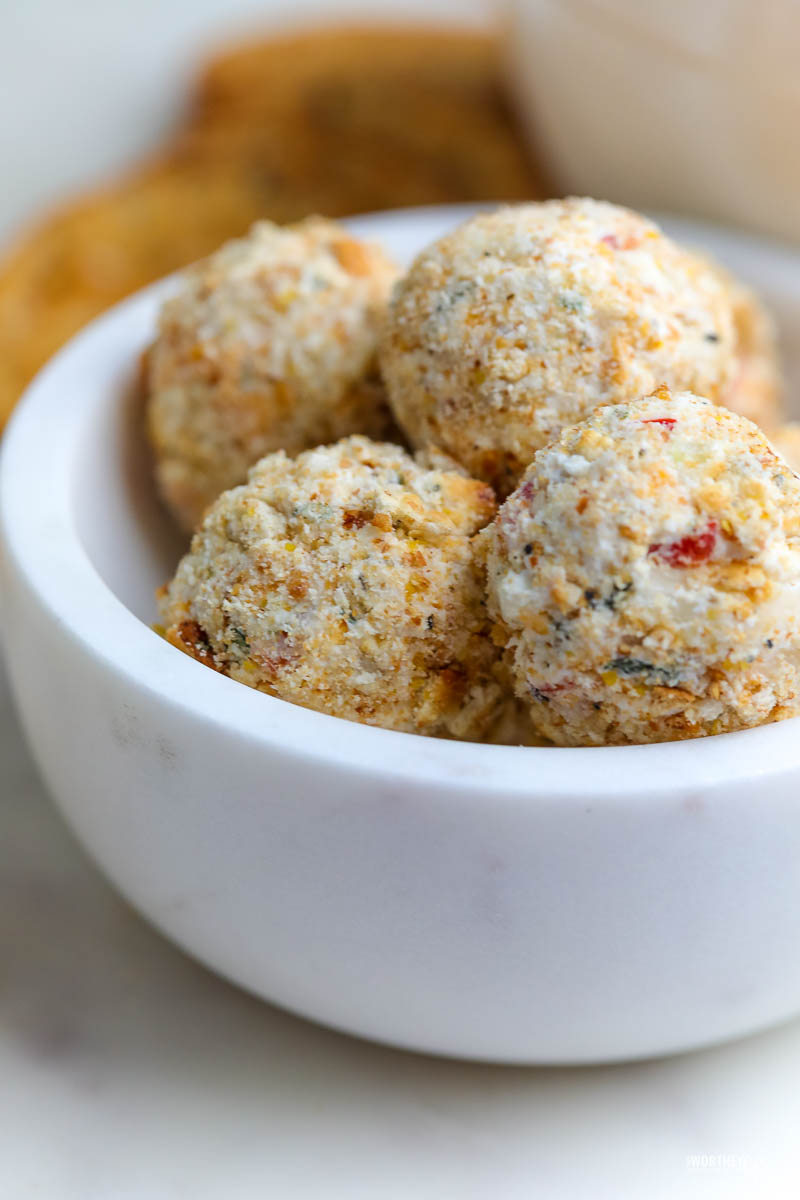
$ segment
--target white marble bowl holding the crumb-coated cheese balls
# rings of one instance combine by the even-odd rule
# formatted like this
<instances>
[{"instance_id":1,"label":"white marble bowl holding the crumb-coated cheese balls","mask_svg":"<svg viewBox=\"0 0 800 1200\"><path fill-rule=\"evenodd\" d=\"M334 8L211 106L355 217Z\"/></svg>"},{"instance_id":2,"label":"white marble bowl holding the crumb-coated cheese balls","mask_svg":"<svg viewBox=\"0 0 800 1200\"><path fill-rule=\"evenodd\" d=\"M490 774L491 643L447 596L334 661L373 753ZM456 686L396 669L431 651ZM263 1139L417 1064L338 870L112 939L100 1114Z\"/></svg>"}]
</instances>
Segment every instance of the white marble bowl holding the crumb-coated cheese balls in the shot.
<instances>
[{"instance_id":1,"label":"white marble bowl holding the crumb-coated cheese balls","mask_svg":"<svg viewBox=\"0 0 800 1200\"><path fill-rule=\"evenodd\" d=\"M408 257L464 215L354 228ZM800 256L673 229L800 325ZM438 742L264 696L152 632L181 542L131 384L173 286L67 346L2 455L13 689L56 803L120 892L251 991L438 1054L631 1058L800 1010L798 720L633 748Z\"/></svg>"}]
</instances>

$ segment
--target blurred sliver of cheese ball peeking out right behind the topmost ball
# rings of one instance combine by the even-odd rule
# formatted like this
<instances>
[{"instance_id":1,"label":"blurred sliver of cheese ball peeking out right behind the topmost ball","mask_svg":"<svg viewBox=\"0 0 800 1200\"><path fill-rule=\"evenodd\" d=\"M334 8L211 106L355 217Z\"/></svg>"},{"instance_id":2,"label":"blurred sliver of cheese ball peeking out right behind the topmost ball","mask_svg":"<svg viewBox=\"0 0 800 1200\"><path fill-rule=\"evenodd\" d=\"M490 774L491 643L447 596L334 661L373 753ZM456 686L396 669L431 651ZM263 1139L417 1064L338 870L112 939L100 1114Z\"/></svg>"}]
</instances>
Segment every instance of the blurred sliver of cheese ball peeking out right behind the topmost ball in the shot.
<instances>
[{"instance_id":1,"label":"blurred sliver of cheese ball peeking out right behind the topmost ball","mask_svg":"<svg viewBox=\"0 0 800 1200\"><path fill-rule=\"evenodd\" d=\"M735 329L734 370L721 403L771 434L781 424L783 398L772 318L751 288L716 270L730 296Z\"/></svg>"}]
</instances>

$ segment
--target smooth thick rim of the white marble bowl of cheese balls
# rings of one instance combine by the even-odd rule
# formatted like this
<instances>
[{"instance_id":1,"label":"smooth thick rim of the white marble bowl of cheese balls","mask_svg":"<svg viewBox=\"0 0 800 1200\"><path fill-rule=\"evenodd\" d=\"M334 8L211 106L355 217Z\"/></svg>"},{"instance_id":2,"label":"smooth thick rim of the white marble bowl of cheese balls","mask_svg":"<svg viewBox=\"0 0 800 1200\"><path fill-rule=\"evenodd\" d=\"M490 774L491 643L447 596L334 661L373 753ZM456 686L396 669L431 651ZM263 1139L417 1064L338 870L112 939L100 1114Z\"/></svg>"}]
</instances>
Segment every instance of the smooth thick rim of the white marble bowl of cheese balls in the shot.
<instances>
[{"instance_id":1,"label":"smooth thick rim of the white marble bowl of cheese balls","mask_svg":"<svg viewBox=\"0 0 800 1200\"><path fill-rule=\"evenodd\" d=\"M387 222L457 220L486 205L441 205L371 214L348 222L379 236ZM675 222L672 222L675 224ZM703 227L681 222L690 229ZM732 234L763 253L800 253L770 239ZM247 688L181 654L110 589L78 529L74 469L82 434L120 394L121 372L152 334L174 276L136 293L92 320L42 368L17 404L0 446L0 547L4 568L24 583L59 635L143 697L222 727L264 750L368 772L386 784L531 800L577 803L673 796L769 778L800 766L800 718L735 733L634 746L498 746L450 742L360 725ZM798 284L800 289L800 283ZM36 478L47 486L31 487ZM58 581L58 586L54 586ZM5 607L5 605L4 605ZM155 616L155 613L154 613ZM12 636L12 631L6 630Z\"/></svg>"}]
</instances>

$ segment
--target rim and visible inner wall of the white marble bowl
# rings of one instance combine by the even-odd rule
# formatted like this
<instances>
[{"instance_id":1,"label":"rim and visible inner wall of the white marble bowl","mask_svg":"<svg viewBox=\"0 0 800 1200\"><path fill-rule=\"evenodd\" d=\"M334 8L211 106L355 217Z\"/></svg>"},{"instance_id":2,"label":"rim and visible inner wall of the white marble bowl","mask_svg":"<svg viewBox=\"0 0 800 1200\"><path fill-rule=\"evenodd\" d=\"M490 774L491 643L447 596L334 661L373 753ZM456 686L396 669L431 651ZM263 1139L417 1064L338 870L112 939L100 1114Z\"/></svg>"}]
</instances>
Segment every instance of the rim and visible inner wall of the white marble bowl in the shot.
<instances>
[{"instance_id":1,"label":"rim and visible inner wall of the white marble bowl","mask_svg":"<svg viewBox=\"0 0 800 1200\"><path fill-rule=\"evenodd\" d=\"M464 220L475 206L415 209L355 218L399 262ZM753 284L777 319L789 376L800 384L800 252L694 222L663 220ZM166 280L101 317L42 372L4 445L0 526L12 572L83 652L131 688L156 691L187 716L235 730L299 757L373 770L426 786L457 781L462 793L597 800L693 786L714 773L736 779L769 763L794 768L796 720L698 742L536 750L420 738L341 721L264 696L206 671L149 628L154 593L186 548L152 487L137 389L139 356L154 337ZM800 415L800 414L799 414ZM31 486L31 480L47 486ZM601 758L602 756L602 758ZM601 766L602 763L602 766ZM759 766L760 764L760 766Z\"/></svg>"}]
</instances>

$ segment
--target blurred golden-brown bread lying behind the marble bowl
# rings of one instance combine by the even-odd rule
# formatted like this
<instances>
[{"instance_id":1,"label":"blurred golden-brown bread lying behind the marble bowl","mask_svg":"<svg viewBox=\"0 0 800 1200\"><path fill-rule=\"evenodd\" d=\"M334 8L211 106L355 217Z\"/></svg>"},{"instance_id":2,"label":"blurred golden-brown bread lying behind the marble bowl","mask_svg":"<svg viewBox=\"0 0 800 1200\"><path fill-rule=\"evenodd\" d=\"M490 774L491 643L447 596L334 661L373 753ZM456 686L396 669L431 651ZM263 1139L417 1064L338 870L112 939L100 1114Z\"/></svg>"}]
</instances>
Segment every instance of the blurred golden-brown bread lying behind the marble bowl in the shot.
<instances>
[{"instance_id":1,"label":"blurred golden-brown bread lying behind the marble bowl","mask_svg":"<svg viewBox=\"0 0 800 1200\"><path fill-rule=\"evenodd\" d=\"M0 259L0 425L82 325L259 217L541 197L500 62L489 35L429 29L303 32L222 54L169 145Z\"/></svg>"}]
</instances>

